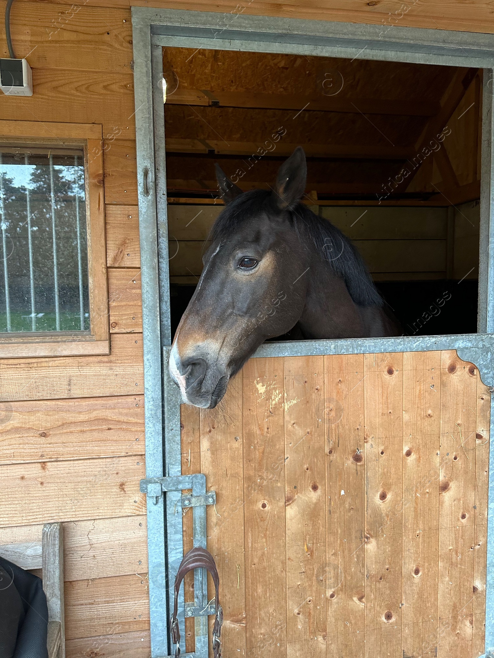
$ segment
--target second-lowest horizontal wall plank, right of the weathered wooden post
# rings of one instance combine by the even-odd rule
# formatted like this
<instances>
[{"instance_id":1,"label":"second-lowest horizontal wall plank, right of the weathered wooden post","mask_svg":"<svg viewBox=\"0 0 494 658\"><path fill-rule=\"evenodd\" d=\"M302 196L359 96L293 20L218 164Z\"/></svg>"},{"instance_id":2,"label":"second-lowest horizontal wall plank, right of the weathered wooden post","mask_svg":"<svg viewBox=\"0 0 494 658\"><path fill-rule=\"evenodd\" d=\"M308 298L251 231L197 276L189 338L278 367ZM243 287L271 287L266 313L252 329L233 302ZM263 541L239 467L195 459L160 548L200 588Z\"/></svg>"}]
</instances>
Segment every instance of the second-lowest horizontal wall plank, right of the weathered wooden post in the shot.
<instances>
[{"instance_id":1,"label":"second-lowest horizontal wall plank, right of the weathered wooden post","mask_svg":"<svg viewBox=\"0 0 494 658\"><path fill-rule=\"evenodd\" d=\"M148 578L143 574L65 583L68 640L147 630Z\"/></svg>"}]
</instances>

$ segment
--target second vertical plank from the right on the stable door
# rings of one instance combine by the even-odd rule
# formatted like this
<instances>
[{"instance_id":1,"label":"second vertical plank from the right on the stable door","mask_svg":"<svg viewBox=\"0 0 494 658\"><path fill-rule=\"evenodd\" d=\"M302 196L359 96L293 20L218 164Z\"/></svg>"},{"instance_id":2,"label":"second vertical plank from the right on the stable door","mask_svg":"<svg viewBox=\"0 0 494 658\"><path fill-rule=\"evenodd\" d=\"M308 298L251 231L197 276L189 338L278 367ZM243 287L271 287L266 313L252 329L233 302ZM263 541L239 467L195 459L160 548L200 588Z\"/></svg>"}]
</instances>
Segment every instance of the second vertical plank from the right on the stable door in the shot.
<instances>
[{"instance_id":1,"label":"second vertical plank from the right on the stable door","mask_svg":"<svg viewBox=\"0 0 494 658\"><path fill-rule=\"evenodd\" d=\"M477 369L441 353L437 658L472 655Z\"/></svg>"}]
</instances>

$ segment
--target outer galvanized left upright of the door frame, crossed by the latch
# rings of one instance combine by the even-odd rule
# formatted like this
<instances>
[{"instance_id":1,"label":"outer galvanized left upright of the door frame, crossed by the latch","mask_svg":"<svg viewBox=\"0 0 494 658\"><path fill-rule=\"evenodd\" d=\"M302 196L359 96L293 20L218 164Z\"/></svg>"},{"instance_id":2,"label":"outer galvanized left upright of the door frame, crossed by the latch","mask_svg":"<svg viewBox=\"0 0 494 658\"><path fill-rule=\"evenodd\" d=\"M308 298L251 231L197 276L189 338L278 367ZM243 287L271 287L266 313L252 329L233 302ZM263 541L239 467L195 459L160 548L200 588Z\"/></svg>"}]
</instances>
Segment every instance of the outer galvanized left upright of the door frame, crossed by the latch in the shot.
<instances>
[{"instance_id":1,"label":"outer galvanized left upright of the door frame, crossed by the latch","mask_svg":"<svg viewBox=\"0 0 494 658\"><path fill-rule=\"evenodd\" d=\"M146 476L163 476L163 387L154 195L153 98L151 32L149 25L133 25L134 98L138 168L139 233L142 276L142 330L144 347L144 422ZM144 171L151 181L144 186ZM152 193L150 193L150 190ZM164 309L168 313L169 309ZM151 657L169 654L167 584L165 574L165 515L163 496L148 505L148 557L150 587Z\"/></svg>"}]
</instances>

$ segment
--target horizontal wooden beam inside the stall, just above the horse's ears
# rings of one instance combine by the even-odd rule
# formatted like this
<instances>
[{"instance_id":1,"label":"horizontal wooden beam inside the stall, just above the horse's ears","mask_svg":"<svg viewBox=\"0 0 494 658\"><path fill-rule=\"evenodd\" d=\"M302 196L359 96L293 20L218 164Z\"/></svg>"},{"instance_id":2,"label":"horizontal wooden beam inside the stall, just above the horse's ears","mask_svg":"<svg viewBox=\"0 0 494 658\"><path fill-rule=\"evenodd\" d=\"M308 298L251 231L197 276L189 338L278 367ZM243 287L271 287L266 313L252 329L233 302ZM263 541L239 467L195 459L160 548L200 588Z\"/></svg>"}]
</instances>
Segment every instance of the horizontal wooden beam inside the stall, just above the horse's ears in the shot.
<instances>
[{"instance_id":1,"label":"horizontal wooden beam inside the stall, just above the horse's ears","mask_svg":"<svg viewBox=\"0 0 494 658\"><path fill-rule=\"evenodd\" d=\"M209 155L242 155L252 164L264 157L287 157L297 146L302 146L307 157L365 160L406 160L414 155L411 147L387 145L360 146L358 144L288 144L267 140L262 143L215 139L176 139L165 141L167 153L208 153Z\"/></svg>"}]
</instances>

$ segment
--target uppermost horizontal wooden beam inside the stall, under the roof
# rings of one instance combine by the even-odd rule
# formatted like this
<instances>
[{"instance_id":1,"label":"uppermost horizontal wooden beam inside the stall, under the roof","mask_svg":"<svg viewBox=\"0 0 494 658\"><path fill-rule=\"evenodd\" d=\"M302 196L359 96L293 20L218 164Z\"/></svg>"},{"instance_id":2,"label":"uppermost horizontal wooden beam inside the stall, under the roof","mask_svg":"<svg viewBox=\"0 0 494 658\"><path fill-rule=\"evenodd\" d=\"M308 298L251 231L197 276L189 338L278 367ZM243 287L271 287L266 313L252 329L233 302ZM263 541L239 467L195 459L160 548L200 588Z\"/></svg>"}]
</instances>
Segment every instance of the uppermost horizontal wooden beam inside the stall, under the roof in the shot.
<instances>
[{"instance_id":1,"label":"uppermost horizontal wooden beam inside the stall, under the roof","mask_svg":"<svg viewBox=\"0 0 494 658\"><path fill-rule=\"evenodd\" d=\"M335 96L308 97L304 94L258 93L256 91L209 91L180 89L167 95L170 105L209 107L243 107L252 109L343 112L351 114L398 114L400 116L434 116L439 103L410 99L354 98Z\"/></svg>"}]
</instances>

